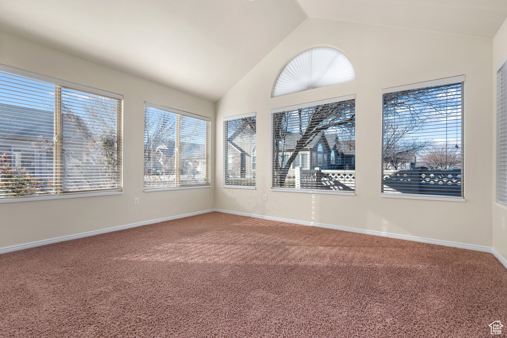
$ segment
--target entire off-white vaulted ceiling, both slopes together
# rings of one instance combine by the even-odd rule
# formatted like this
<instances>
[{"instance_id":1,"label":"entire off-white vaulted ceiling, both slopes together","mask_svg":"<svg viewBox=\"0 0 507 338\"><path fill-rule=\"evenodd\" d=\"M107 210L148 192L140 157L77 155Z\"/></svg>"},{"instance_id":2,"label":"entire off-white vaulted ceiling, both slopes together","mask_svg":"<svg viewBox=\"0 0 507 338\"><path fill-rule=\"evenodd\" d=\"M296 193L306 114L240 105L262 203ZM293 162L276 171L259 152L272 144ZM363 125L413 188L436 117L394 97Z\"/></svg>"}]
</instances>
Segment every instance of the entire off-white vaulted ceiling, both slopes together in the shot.
<instances>
[{"instance_id":1,"label":"entire off-white vaulted ceiling, both slopes together","mask_svg":"<svg viewBox=\"0 0 507 338\"><path fill-rule=\"evenodd\" d=\"M219 100L307 17L492 38L506 0L0 0L0 30Z\"/></svg>"}]
</instances>

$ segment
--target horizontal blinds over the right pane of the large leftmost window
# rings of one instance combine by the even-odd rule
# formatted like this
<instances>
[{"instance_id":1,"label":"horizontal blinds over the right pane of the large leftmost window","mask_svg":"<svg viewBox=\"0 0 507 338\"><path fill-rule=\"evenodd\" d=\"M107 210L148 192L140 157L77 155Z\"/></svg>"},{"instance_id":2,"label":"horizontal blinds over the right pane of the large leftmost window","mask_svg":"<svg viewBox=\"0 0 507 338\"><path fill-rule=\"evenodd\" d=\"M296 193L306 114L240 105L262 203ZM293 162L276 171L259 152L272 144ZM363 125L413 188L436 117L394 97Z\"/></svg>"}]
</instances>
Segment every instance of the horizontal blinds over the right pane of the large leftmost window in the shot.
<instances>
[{"instance_id":1,"label":"horizontal blinds over the right pane of the large leftmost window","mask_svg":"<svg viewBox=\"0 0 507 338\"><path fill-rule=\"evenodd\" d=\"M58 92L61 136L57 140L61 139L62 155L57 188L75 192L120 187L121 101L65 87Z\"/></svg>"}]
</instances>

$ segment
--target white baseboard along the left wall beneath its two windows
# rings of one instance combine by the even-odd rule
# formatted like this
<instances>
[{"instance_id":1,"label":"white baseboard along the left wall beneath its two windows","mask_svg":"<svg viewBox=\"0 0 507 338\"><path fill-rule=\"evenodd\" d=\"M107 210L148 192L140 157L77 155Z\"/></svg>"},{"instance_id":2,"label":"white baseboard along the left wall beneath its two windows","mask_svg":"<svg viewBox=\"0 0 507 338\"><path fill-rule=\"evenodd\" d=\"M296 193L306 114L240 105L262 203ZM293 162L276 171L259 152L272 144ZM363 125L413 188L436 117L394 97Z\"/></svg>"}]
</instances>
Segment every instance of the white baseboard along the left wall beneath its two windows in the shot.
<instances>
[{"instance_id":1,"label":"white baseboard along the left wall beneath its two windows","mask_svg":"<svg viewBox=\"0 0 507 338\"><path fill-rule=\"evenodd\" d=\"M200 211L189 212L189 213L181 214L181 215L175 215L175 216L169 216L169 217L157 218L157 219L150 219L150 220L145 220L145 221L142 221L142 222L125 224L124 226L117 226L117 227L111 227L111 228L105 228L105 229L99 229L99 230L92 230L92 231L87 231L85 233L79 233L79 234L67 235L67 236L60 236L60 237L55 237L55 238L50 238L50 239L44 239L44 240L41 240L41 241L34 241L34 242L23 243L23 244L16 244L16 245L11 245L11 246L4 246L3 248L0 248L0 254L6 253L6 252L11 252L11 251L17 251L17 250L23 250L23 249L33 248L33 247L36 247L36 246L41 246L41 245L46 245L46 244L52 244L52 243L57 243L57 242L68 241L68 240L71 240L71 239L77 239L77 238L83 238L83 237L88 237L88 236L95 236L95 235L99 235L99 234L105 234L105 233L109 233L109 232L112 232L112 231L118 231L118 230L129 229L129 228L135 228L135 227L140 227L140 226L147 226L148 224L163 222L163 221L166 221L166 220L171 220L171 219L176 219L176 218L184 218L184 217L199 215L199 214L203 214L203 213L207 213L207 212L212 212L212 211L215 211L215 210L214 209L200 210Z\"/></svg>"}]
</instances>

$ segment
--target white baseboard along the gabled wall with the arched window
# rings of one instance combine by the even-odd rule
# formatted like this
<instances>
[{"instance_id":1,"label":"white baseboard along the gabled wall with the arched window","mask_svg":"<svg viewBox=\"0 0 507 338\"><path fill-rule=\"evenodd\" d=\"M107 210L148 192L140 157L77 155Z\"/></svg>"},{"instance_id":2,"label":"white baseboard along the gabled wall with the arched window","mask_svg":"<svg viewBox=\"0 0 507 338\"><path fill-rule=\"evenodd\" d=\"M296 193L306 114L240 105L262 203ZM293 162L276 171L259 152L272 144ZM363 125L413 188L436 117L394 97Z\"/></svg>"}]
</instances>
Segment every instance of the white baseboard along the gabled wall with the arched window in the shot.
<instances>
[{"instance_id":1,"label":"white baseboard along the gabled wall with the arched window","mask_svg":"<svg viewBox=\"0 0 507 338\"><path fill-rule=\"evenodd\" d=\"M484 252L490 252L490 253L492 250L492 248L490 246L486 246L486 245L453 242L453 241L418 237L418 236L412 236L412 235L401 235L401 234L387 233L387 232L382 232L382 231L377 231L377 230L334 226L332 224L309 222L309 221L303 221L303 220L297 220L297 219L289 219L289 218L281 218L281 217L273 217L273 216L265 216L265 215L257 215L257 214L251 214L251 213L246 213L246 212L236 212L236 211L221 210L221 209L215 209L215 211L225 212L225 213L230 213L230 214L235 214L235 215L241 215L241 216L249 216L249 217L256 217L256 218L269 219L269 220L277 220L277 221L286 222L286 223L302 224L303 226L314 226L314 227L321 227L321 228L343 230L343 231L349 231L349 232L359 233L359 234L368 234L368 235L383 236L383 237L389 237L389 238L405 239L405 240L415 241L415 242L452 246L452 247L456 247L456 248L484 251Z\"/></svg>"}]
</instances>

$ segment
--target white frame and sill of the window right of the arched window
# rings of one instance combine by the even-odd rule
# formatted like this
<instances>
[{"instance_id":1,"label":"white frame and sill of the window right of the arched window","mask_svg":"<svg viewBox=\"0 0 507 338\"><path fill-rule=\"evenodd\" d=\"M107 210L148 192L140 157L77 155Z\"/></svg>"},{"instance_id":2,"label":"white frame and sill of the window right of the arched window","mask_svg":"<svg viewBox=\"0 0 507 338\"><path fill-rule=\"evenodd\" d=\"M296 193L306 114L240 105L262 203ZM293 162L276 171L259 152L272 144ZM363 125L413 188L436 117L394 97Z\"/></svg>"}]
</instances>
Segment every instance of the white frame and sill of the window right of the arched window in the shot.
<instances>
[{"instance_id":1,"label":"white frame and sill of the window right of the arched window","mask_svg":"<svg viewBox=\"0 0 507 338\"><path fill-rule=\"evenodd\" d=\"M465 139L465 94L464 94L464 82L465 82L465 76L459 75L451 78L444 78L444 79L438 79L438 80L431 80L431 81L425 81L425 82L419 82L414 83L410 85L404 85L404 86L398 86L398 87L390 87L390 88L384 88L382 89L382 95L387 93L393 93L393 92L400 92L403 90L412 90L412 89L419 89L419 88L425 88L425 87L433 87L433 86L441 86L441 85L448 85L452 83L463 83L462 86L462 92L461 92L461 101L462 101L462 107L461 110L461 186L463 187L463 196L462 197L450 197L450 196L437 196L437 195L412 195L412 194L390 194L390 193L380 193L380 197L386 197L386 198L403 198L403 199L410 199L410 200L433 200L433 201L447 201L447 202L466 202L464 197L464 183L465 183L465 152L464 152L464 139ZM382 118L383 120L383 118ZM382 122L383 124L383 122ZM382 160L381 160L382 161ZM383 179L383 170L382 170L382 162L380 164L380 181L382 182Z\"/></svg>"}]
</instances>

